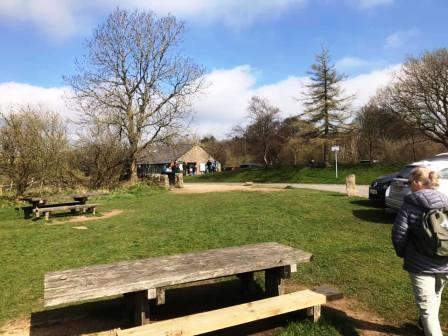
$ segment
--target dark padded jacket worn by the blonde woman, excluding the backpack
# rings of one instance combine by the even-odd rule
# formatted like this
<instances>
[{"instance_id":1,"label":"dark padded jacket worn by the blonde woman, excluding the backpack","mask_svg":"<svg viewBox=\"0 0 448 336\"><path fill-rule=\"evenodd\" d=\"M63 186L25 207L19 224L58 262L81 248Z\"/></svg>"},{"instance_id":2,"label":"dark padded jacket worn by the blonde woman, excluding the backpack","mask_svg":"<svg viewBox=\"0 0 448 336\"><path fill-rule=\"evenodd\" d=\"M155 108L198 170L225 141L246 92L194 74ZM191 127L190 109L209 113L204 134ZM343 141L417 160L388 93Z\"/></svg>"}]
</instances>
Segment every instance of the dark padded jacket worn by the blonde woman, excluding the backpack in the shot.
<instances>
[{"instance_id":1,"label":"dark padded jacket worn by the blonde woman, excluding the backpack","mask_svg":"<svg viewBox=\"0 0 448 336\"><path fill-rule=\"evenodd\" d=\"M428 257L415 247L417 227L428 209L448 208L448 197L433 189L422 189L404 198L395 218L392 242L395 252L404 258L403 268L411 273L448 273L448 258Z\"/></svg>"}]
</instances>

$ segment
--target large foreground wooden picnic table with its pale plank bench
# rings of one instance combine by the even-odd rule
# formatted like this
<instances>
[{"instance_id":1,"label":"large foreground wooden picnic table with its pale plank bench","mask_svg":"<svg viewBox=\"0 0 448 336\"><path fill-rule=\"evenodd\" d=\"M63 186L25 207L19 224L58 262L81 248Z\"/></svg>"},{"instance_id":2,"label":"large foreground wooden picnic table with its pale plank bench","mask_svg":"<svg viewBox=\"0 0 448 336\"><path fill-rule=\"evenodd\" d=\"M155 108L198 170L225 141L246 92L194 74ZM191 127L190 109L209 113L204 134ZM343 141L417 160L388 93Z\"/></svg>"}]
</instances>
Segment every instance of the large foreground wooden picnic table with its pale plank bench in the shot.
<instances>
[{"instance_id":1,"label":"large foreground wooden picnic table with its pale plank bench","mask_svg":"<svg viewBox=\"0 0 448 336\"><path fill-rule=\"evenodd\" d=\"M143 329L119 330L118 335L196 335L305 308L317 320L320 305L330 295L328 290L301 291L275 299L284 294L284 281L297 265L311 258L308 252L270 242L87 266L45 274L44 302L51 307L124 295L133 308L134 325ZM149 303L163 304L165 289L171 286L237 276L243 290L249 290L254 285L254 272L259 271L265 273L268 299L147 325L151 318Z\"/></svg>"}]
</instances>

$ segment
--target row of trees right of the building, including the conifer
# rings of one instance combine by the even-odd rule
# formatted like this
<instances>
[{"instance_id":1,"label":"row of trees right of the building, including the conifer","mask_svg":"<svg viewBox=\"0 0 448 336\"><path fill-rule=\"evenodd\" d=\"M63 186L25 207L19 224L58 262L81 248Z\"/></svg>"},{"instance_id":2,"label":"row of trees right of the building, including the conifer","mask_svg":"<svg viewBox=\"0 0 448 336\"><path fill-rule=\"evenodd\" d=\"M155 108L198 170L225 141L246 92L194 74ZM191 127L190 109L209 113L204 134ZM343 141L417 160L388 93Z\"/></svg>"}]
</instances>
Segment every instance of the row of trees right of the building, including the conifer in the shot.
<instances>
[{"instance_id":1,"label":"row of trees right of the building, including the conifer","mask_svg":"<svg viewBox=\"0 0 448 336\"><path fill-rule=\"evenodd\" d=\"M360 108L341 87L346 78L332 64L328 50L316 56L302 93L305 110L280 118L280 110L263 97L252 97L249 123L227 139L202 139L204 146L228 166L241 162L328 166L332 145L342 161L416 161L448 148L448 49L408 57Z\"/></svg>"}]
</instances>

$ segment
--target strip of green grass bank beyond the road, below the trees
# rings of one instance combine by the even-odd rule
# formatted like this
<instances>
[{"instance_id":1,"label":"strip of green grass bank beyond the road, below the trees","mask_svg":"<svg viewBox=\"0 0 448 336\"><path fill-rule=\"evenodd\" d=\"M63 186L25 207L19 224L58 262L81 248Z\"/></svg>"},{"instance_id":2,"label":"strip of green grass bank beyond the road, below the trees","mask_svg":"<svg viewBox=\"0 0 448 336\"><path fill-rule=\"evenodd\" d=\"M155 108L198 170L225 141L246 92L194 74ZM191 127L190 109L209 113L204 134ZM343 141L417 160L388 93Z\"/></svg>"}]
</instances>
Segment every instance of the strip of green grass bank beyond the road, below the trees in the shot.
<instances>
[{"instance_id":1,"label":"strip of green grass bank beyond the road, below the trees","mask_svg":"<svg viewBox=\"0 0 448 336\"><path fill-rule=\"evenodd\" d=\"M186 176L187 182L284 182L284 183L345 183L345 177L356 175L356 183L370 184L377 177L398 171L403 164L339 165L338 178L335 168L309 166L277 166L257 169L242 169L214 174Z\"/></svg>"}]
</instances>

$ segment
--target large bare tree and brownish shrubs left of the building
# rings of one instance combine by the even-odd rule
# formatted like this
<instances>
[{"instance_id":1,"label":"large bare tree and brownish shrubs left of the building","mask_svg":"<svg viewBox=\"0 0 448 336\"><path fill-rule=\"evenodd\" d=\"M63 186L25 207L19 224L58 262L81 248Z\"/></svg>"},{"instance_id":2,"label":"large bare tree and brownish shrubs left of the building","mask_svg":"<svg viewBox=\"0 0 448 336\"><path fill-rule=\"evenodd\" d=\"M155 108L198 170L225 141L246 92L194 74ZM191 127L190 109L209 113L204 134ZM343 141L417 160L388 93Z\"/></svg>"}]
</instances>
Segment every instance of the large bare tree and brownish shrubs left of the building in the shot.
<instances>
[{"instance_id":1,"label":"large bare tree and brownish shrubs left of the building","mask_svg":"<svg viewBox=\"0 0 448 336\"><path fill-rule=\"evenodd\" d=\"M76 136L51 111L14 107L0 118L0 178L17 195L36 186L102 188L137 180L139 154L169 143L189 120L204 68L181 50L174 16L117 8L64 77ZM1 184L1 182L0 182Z\"/></svg>"}]
</instances>

